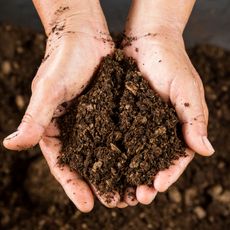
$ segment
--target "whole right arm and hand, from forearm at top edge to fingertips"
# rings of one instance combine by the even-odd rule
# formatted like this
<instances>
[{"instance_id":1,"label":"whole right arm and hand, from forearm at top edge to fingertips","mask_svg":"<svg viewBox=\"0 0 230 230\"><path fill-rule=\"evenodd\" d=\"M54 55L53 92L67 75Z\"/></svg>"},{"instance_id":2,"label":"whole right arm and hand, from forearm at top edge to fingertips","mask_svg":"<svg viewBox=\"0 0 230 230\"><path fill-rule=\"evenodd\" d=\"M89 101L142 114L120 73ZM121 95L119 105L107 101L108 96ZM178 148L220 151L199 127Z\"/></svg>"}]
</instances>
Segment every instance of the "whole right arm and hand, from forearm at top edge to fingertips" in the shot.
<instances>
[{"instance_id":1,"label":"whole right arm and hand, from forearm at top edge to fingertips","mask_svg":"<svg viewBox=\"0 0 230 230\"><path fill-rule=\"evenodd\" d=\"M214 149L207 139L208 109L201 79L185 51L182 33L195 1L134 0L126 23L126 36L135 37L124 48L133 57L150 85L175 106L188 145L187 157L153 178L153 187L137 187L142 204L166 191L191 162L194 152L210 156ZM157 9L157 10L153 10ZM125 41L124 41L125 44Z\"/></svg>"}]
</instances>

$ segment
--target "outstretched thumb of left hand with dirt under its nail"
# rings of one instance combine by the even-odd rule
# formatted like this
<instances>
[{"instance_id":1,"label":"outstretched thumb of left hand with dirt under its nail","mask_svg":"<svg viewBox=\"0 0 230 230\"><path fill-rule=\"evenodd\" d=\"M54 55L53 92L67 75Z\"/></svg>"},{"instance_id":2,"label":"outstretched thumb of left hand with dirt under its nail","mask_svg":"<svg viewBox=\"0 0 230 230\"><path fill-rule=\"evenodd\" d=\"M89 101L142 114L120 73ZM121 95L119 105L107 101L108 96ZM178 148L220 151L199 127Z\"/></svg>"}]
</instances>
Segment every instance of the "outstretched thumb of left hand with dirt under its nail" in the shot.
<instances>
[{"instance_id":1,"label":"outstretched thumb of left hand with dirt under its nail","mask_svg":"<svg viewBox=\"0 0 230 230\"><path fill-rule=\"evenodd\" d=\"M60 102L58 100L60 97L54 90L51 90L49 84L45 82L35 88L17 131L3 141L6 148L23 150L39 142Z\"/></svg>"}]
</instances>

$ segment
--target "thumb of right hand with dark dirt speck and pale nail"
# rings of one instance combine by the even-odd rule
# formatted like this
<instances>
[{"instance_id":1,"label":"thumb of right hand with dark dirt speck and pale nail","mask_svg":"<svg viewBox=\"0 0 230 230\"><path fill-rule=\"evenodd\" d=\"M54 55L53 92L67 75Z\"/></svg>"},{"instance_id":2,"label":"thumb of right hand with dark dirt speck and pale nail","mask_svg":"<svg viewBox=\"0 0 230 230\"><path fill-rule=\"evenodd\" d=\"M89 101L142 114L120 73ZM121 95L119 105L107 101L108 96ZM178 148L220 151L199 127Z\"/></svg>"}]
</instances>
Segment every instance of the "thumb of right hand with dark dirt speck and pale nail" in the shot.
<instances>
[{"instance_id":1,"label":"thumb of right hand with dark dirt speck and pale nail","mask_svg":"<svg viewBox=\"0 0 230 230\"><path fill-rule=\"evenodd\" d=\"M187 145L201 155L210 156L214 149L207 138L207 121L202 106L204 99L198 84L195 77L192 81L175 79L171 84L170 99L182 123Z\"/></svg>"}]
</instances>

